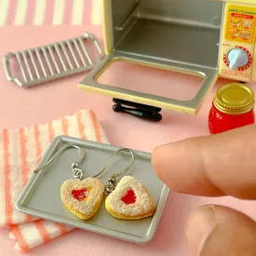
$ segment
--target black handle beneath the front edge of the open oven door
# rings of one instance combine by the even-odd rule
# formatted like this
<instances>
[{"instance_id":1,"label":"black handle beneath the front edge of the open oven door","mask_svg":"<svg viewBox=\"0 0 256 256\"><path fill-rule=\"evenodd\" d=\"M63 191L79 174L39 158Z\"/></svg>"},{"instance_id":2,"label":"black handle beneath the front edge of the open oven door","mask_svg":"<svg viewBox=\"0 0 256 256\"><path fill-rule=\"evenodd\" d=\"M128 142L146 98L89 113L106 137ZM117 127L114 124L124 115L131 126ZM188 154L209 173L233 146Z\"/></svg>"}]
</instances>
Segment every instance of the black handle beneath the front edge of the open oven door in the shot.
<instances>
[{"instance_id":1,"label":"black handle beneath the front edge of the open oven door","mask_svg":"<svg viewBox=\"0 0 256 256\"><path fill-rule=\"evenodd\" d=\"M119 99L113 99L113 101L115 102L113 110L117 113L126 113L154 122L162 120L162 115L159 114L162 110L160 108Z\"/></svg>"}]
</instances>

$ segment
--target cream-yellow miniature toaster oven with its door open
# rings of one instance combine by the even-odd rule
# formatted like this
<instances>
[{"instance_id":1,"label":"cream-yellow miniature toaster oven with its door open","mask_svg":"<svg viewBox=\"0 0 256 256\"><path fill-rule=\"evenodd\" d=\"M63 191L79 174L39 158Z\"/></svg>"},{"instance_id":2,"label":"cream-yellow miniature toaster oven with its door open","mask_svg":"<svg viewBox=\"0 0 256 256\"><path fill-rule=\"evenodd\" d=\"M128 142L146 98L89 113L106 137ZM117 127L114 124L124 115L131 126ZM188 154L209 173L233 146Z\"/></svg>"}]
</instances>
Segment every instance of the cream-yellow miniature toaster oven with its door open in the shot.
<instances>
[{"instance_id":1,"label":"cream-yellow miniature toaster oven with its door open","mask_svg":"<svg viewBox=\"0 0 256 256\"><path fill-rule=\"evenodd\" d=\"M195 115L219 77L256 80L255 0L103 0L102 16L106 55L79 88ZM190 101L99 83L113 61L195 74L204 82Z\"/></svg>"}]
</instances>

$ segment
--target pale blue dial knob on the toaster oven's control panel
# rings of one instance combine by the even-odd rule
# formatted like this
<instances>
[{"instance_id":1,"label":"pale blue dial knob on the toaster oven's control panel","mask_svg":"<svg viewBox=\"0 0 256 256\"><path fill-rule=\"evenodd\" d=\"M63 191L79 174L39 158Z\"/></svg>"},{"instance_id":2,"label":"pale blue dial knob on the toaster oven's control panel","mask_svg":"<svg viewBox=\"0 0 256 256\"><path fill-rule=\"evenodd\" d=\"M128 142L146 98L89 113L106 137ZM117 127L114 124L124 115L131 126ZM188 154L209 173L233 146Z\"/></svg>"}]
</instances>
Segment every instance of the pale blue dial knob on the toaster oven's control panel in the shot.
<instances>
[{"instance_id":1,"label":"pale blue dial knob on the toaster oven's control panel","mask_svg":"<svg viewBox=\"0 0 256 256\"><path fill-rule=\"evenodd\" d=\"M228 62L230 69L236 70L245 67L249 63L249 55L245 50L235 48L228 53Z\"/></svg>"}]
</instances>

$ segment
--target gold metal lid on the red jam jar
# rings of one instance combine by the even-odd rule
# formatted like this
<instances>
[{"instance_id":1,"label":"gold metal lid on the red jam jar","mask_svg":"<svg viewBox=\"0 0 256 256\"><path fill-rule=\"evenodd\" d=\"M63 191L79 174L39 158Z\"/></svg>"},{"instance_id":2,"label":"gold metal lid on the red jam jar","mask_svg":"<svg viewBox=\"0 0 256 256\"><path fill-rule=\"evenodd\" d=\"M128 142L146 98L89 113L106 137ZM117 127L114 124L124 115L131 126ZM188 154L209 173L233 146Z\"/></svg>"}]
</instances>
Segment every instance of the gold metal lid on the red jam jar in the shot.
<instances>
[{"instance_id":1,"label":"gold metal lid on the red jam jar","mask_svg":"<svg viewBox=\"0 0 256 256\"><path fill-rule=\"evenodd\" d=\"M242 84L228 84L219 88L213 104L224 114L242 115L249 113L254 107L254 92Z\"/></svg>"}]
</instances>

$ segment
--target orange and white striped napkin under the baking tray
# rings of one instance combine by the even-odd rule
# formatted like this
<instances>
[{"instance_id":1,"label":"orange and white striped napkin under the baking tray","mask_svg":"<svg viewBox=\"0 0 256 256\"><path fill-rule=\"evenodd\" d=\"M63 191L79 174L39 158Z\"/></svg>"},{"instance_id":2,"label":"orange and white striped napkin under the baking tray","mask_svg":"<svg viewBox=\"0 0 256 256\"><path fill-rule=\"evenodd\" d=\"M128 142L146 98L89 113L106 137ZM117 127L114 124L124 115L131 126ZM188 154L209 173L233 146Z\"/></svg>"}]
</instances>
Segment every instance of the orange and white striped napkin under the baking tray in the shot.
<instances>
[{"instance_id":1,"label":"orange and white striped napkin under the baking tray","mask_svg":"<svg viewBox=\"0 0 256 256\"><path fill-rule=\"evenodd\" d=\"M46 125L0 131L0 227L10 228L9 236L17 239L15 249L20 251L33 249L73 229L60 223L35 220L14 207L41 155L58 135L108 143L91 110L79 111Z\"/></svg>"}]
</instances>

